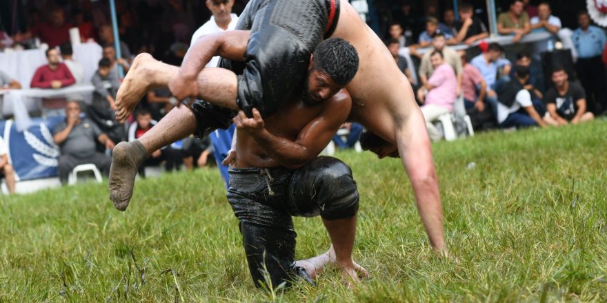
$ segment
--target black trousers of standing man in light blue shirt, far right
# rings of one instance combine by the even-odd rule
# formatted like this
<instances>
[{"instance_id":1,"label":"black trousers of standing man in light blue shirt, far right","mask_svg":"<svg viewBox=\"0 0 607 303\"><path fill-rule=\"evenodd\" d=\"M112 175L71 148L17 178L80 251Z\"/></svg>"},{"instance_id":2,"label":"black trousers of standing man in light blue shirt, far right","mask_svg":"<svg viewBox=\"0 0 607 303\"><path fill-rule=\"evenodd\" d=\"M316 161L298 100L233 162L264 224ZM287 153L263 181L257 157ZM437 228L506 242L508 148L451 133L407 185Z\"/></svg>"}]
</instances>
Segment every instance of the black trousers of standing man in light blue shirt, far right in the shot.
<instances>
[{"instance_id":1,"label":"black trousers of standing man in light blue shirt, far right","mask_svg":"<svg viewBox=\"0 0 607 303\"><path fill-rule=\"evenodd\" d=\"M575 70L581 86L586 91L586 104L588 111L593 114L601 114L607 109L607 90L605 65L601 56L587 59L577 59Z\"/></svg>"}]
</instances>

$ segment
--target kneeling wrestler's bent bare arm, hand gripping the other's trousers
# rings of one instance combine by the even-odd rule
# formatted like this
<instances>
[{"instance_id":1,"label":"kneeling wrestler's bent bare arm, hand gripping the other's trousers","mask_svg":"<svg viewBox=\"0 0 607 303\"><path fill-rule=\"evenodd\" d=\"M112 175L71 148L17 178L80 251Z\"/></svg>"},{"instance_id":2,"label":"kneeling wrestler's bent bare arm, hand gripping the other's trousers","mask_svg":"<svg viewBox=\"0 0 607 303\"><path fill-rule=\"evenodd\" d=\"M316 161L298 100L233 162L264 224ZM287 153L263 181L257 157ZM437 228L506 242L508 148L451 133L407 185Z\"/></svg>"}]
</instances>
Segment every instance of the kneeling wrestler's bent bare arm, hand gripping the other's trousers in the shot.
<instances>
[{"instance_id":1,"label":"kneeling wrestler's bent bare arm, hand gripping the other's trousers","mask_svg":"<svg viewBox=\"0 0 607 303\"><path fill-rule=\"evenodd\" d=\"M253 119L257 121L257 129L248 131L248 134L259 145L266 147L265 150L268 156L279 163L279 165L289 169L298 169L320 154L330 140L332 140L333 135L339 130L341 124L348 118L351 107L350 96L347 97L347 100L326 102L331 102L332 105L327 105L324 112L310 121L304 129L301 129L295 142L270 134L263 127L263 120L261 120L261 115L257 110L253 111L253 118L249 119L249 121ZM239 112L237 116L237 120L239 120L237 121L237 127L239 129L243 128L241 121L244 119L246 119L244 112ZM259 126L259 121L261 121L261 126Z\"/></svg>"}]
</instances>

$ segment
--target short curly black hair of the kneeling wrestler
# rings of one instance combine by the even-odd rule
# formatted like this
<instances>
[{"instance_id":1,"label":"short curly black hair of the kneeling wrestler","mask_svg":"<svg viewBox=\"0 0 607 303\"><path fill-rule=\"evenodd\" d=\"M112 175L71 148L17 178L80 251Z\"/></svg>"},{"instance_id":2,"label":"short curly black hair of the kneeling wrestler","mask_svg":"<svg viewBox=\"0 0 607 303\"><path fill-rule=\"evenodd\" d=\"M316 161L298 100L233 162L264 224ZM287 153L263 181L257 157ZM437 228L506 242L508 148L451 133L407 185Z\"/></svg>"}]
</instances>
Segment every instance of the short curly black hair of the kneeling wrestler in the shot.
<instances>
[{"instance_id":1,"label":"short curly black hair of the kneeling wrestler","mask_svg":"<svg viewBox=\"0 0 607 303\"><path fill-rule=\"evenodd\" d=\"M344 39L327 39L314 50L315 70L326 72L340 86L346 86L354 79L358 64L358 52Z\"/></svg>"}]
</instances>

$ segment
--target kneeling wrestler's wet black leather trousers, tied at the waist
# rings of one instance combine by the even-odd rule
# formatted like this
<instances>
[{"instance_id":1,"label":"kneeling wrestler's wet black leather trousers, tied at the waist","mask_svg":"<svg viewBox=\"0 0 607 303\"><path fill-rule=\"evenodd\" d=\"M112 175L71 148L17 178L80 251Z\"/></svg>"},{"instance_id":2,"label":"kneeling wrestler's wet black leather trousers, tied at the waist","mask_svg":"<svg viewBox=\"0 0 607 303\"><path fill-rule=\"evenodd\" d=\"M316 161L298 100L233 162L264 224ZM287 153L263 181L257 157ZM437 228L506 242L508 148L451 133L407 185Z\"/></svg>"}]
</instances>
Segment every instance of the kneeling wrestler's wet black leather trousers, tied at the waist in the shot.
<instances>
[{"instance_id":1,"label":"kneeling wrestler's wet black leather trousers, tied at the waist","mask_svg":"<svg viewBox=\"0 0 607 303\"><path fill-rule=\"evenodd\" d=\"M239 219L249 271L256 286L272 286L297 275L292 216L325 220L352 218L359 194L352 171L336 158L321 156L299 169L229 169L228 201Z\"/></svg>"}]
</instances>

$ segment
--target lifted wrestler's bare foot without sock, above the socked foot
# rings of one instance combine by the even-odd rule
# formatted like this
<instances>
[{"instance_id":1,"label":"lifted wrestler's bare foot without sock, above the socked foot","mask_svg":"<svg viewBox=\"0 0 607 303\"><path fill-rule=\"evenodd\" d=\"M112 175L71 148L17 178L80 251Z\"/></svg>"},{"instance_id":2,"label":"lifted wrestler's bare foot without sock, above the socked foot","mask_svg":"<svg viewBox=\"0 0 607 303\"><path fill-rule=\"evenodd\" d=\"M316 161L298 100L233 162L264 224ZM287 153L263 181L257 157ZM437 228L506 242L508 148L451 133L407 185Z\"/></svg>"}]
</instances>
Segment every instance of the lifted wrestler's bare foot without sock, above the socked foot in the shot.
<instances>
[{"instance_id":1,"label":"lifted wrestler's bare foot without sock, above the socked foot","mask_svg":"<svg viewBox=\"0 0 607 303\"><path fill-rule=\"evenodd\" d=\"M168 66L147 53L138 54L116 95L116 119L124 123L146 92L168 86L172 72ZM177 68L177 67L176 67Z\"/></svg>"}]
</instances>

